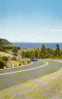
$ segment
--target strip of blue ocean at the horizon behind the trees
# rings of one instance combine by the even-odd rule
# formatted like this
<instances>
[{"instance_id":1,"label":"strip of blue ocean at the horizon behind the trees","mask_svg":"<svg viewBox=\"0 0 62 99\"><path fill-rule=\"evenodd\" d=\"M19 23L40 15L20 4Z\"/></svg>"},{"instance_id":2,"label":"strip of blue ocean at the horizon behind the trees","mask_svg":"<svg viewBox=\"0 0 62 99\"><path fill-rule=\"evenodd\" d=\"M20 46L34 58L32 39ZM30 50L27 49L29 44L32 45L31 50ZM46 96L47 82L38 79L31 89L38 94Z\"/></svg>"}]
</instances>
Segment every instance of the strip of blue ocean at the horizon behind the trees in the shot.
<instances>
[{"instance_id":1,"label":"strip of blue ocean at the horizon behind the trees","mask_svg":"<svg viewBox=\"0 0 62 99\"><path fill-rule=\"evenodd\" d=\"M41 48L43 44L46 48L51 49L55 49L56 44L59 44L59 47L62 49L62 43L15 43L16 47L20 48Z\"/></svg>"}]
</instances>

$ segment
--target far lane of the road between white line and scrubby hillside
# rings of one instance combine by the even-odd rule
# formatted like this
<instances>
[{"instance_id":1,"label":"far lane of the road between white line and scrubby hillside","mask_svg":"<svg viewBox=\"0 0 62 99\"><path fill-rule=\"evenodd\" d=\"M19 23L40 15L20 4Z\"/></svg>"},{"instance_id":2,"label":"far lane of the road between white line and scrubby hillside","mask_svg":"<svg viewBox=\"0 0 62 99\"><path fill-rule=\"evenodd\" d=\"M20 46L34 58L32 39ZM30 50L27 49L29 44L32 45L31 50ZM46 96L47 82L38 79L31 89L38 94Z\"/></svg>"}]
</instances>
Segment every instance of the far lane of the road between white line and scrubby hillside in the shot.
<instances>
[{"instance_id":1,"label":"far lane of the road between white line and scrubby hillside","mask_svg":"<svg viewBox=\"0 0 62 99\"><path fill-rule=\"evenodd\" d=\"M9 73L10 72L16 72L16 71L21 71L21 70L26 70L26 69L29 69L29 68L35 68L35 67L39 67L40 65L44 64L45 62L44 61L34 61L34 62L31 62L30 64L28 65L25 65L25 66L19 66L18 68L7 68L7 69L3 69L3 70L0 70L0 75L3 74L6 74L6 73Z\"/></svg>"}]
</instances>

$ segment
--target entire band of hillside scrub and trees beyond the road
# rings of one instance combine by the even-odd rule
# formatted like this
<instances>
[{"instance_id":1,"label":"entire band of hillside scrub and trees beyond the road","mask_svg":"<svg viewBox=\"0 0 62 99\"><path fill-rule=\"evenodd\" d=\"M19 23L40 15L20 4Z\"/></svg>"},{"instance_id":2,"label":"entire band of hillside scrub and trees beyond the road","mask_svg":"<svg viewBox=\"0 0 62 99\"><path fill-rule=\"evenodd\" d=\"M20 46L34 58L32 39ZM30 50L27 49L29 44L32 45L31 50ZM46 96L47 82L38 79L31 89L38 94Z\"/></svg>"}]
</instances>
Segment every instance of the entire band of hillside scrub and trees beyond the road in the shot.
<instances>
[{"instance_id":1,"label":"entire band of hillside scrub and trees beyond the road","mask_svg":"<svg viewBox=\"0 0 62 99\"><path fill-rule=\"evenodd\" d=\"M59 44L56 44L56 49L46 48L45 44L41 48L22 49L5 39L0 39L0 69L19 67L32 60L45 58L62 59Z\"/></svg>"}]
</instances>

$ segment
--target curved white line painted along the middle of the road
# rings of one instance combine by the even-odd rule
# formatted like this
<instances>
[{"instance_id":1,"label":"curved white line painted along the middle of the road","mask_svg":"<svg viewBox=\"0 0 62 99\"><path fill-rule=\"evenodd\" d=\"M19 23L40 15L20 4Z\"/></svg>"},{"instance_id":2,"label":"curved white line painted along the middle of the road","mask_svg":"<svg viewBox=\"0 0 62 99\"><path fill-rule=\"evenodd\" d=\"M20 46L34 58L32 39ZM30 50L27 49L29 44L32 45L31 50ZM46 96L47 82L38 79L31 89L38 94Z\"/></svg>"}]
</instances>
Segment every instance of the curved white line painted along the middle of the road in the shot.
<instances>
[{"instance_id":1,"label":"curved white line painted along the middle of the road","mask_svg":"<svg viewBox=\"0 0 62 99\"><path fill-rule=\"evenodd\" d=\"M43 64L43 65L40 65L39 67L35 67L35 68L30 68L30 69L25 69L25 70L20 70L20 71L13 71L13 72L8 72L8 73L1 73L0 76L9 75L9 74L15 74L15 73L17 73L17 72L25 72L25 71L37 70L37 69L46 67L47 65L48 65L48 62L46 62L46 63Z\"/></svg>"}]
</instances>

